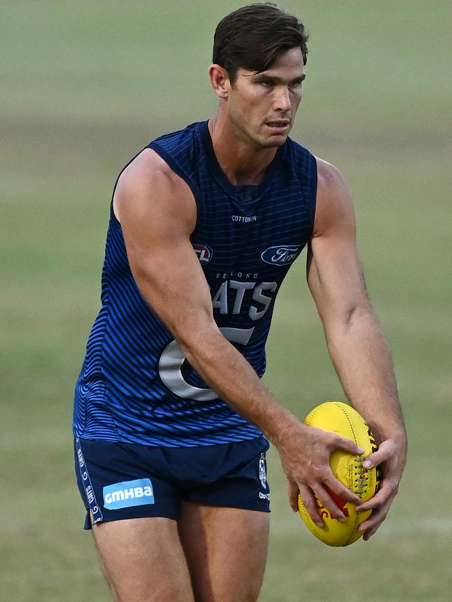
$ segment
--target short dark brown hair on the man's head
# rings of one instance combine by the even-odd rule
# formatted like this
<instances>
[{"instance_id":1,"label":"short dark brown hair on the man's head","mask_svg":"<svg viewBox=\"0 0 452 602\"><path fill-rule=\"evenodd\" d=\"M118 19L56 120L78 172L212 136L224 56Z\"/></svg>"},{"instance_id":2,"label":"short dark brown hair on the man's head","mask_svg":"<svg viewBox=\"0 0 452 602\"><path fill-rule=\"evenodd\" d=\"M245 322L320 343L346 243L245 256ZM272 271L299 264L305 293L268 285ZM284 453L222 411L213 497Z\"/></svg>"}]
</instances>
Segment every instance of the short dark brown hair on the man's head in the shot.
<instances>
[{"instance_id":1,"label":"short dark brown hair on the man's head","mask_svg":"<svg viewBox=\"0 0 452 602\"><path fill-rule=\"evenodd\" d=\"M239 67L265 71L280 54L292 48L301 49L306 65L307 38L300 20L273 2L249 4L226 15L218 24L212 60L227 70L234 83Z\"/></svg>"}]
</instances>

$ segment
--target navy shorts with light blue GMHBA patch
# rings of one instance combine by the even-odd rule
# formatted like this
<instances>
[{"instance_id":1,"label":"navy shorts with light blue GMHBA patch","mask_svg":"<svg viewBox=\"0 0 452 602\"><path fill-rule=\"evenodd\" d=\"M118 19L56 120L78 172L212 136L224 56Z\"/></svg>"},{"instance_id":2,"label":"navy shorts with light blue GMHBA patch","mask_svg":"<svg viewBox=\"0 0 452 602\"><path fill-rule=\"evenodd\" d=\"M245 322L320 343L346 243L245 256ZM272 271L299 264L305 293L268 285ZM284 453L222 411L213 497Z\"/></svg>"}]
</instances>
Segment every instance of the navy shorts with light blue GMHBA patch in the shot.
<instances>
[{"instance_id":1,"label":"navy shorts with light blue GMHBA patch","mask_svg":"<svg viewBox=\"0 0 452 602\"><path fill-rule=\"evenodd\" d=\"M77 485L92 522L175 519L183 501L270 512L264 437L191 448L75 439Z\"/></svg>"}]
</instances>

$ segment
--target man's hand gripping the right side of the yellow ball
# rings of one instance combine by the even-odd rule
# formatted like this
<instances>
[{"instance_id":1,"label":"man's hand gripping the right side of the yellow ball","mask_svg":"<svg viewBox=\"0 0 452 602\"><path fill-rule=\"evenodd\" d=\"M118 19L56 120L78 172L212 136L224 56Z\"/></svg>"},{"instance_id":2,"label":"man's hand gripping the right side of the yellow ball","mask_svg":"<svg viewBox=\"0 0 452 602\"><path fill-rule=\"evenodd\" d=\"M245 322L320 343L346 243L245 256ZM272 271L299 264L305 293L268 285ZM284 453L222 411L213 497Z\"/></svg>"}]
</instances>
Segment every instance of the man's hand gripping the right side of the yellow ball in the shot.
<instances>
[{"instance_id":1,"label":"man's hand gripping the right side of the yellow ball","mask_svg":"<svg viewBox=\"0 0 452 602\"><path fill-rule=\"evenodd\" d=\"M382 483L378 493L373 498L358 504L356 507L358 511L373 510L370 518L364 521L359 528L360 531L364 531L364 541L367 541L385 520L389 507L397 494L405 460L406 439L382 441L378 451L366 458L363 464L365 469L371 469L382 464Z\"/></svg>"}]
</instances>

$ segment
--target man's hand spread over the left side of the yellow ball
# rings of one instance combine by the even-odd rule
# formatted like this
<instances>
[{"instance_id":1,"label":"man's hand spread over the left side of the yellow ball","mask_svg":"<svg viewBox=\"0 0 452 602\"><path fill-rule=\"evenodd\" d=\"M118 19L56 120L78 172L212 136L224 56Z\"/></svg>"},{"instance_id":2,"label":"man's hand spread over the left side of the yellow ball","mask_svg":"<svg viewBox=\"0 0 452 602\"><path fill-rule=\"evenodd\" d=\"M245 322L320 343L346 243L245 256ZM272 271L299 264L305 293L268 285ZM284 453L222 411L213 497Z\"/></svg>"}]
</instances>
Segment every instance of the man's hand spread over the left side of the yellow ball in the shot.
<instances>
[{"instance_id":1,"label":"man's hand spread over the left side of the yellow ball","mask_svg":"<svg viewBox=\"0 0 452 602\"><path fill-rule=\"evenodd\" d=\"M284 441L280 441L277 447L288 480L289 504L293 512L298 510L300 493L309 516L319 527L323 526L323 519L318 514L316 498L328 508L334 518L345 521L346 517L328 489L346 502L357 504L360 498L334 478L330 468L330 455L337 448L352 455L360 455L364 450L338 434L301 422L285 433Z\"/></svg>"}]
</instances>

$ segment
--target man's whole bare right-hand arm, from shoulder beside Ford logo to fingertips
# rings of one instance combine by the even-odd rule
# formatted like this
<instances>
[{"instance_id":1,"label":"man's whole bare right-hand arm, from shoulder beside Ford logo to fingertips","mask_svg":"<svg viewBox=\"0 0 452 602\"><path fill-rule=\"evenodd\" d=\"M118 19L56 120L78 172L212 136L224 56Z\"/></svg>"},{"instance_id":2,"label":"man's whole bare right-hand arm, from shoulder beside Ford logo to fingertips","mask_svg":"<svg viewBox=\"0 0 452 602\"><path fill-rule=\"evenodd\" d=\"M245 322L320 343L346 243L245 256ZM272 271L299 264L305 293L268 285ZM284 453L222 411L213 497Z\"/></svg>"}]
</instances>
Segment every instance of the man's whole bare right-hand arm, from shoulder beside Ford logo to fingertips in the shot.
<instances>
[{"instance_id":1,"label":"man's whole bare right-hand arm, from shoulder beside Ford logo to fingertips","mask_svg":"<svg viewBox=\"0 0 452 602\"><path fill-rule=\"evenodd\" d=\"M341 174L318 160L318 206L308 252L307 279L323 322L330 357L346 396L380 442L368 466L382 463L380 493L358 508L373 508L362 524L369 539L385 519L406 459L406 435L392 359L366 294L357 258L355 217Z\"/></svg>"}]
</instances>

